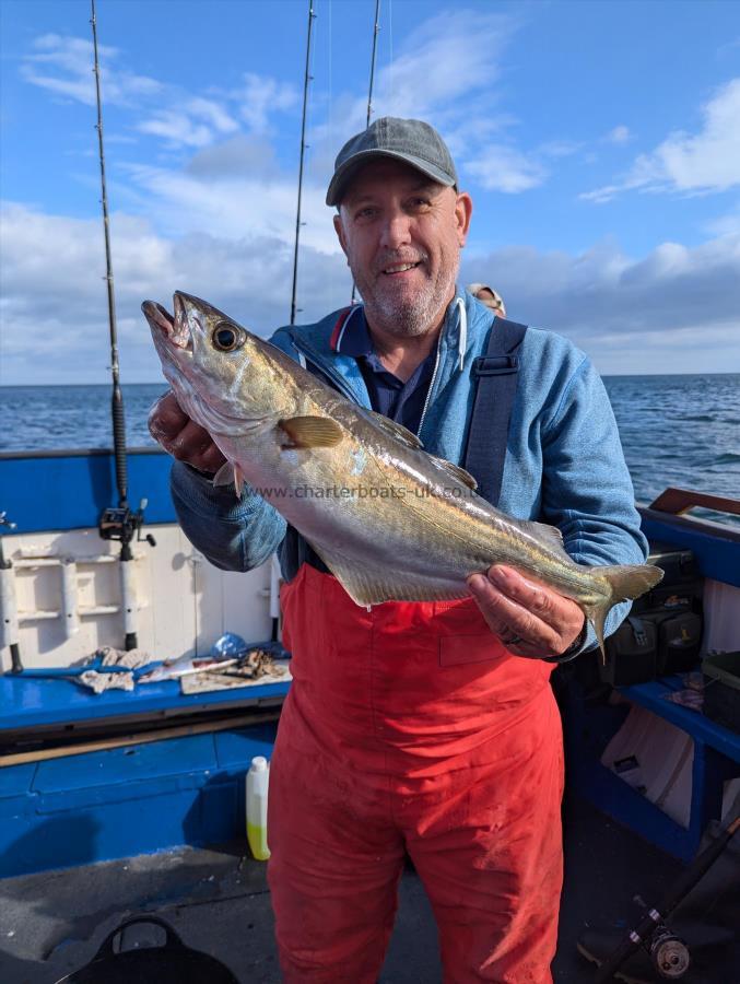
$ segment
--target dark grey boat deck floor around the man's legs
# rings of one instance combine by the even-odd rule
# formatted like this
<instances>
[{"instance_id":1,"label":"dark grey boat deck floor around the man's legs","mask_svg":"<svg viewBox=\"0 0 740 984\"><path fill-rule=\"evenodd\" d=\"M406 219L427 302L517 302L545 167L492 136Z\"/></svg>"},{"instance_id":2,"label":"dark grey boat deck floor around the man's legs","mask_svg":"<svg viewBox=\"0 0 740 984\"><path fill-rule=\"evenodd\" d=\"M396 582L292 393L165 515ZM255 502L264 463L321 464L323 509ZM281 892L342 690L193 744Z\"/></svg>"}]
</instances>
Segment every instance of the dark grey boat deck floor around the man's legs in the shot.
<instances>
[{"instance_id":1,"label":"dark grey boat deck floor around the man's legs","mask_svg":"<svg viewBox=\"0 0 740 984\"><path fill-rule=\"evenodd\" d=\"M639 892L656 901L681 865L580 799L566 799L564 818L566 876L553 976L562 984L586 984L595 968L575 947L584 924L632 918L632 897ZM223 961L242 984L277 984L266 866L245 859L244 850L240 842L1 880L0 981L54 984L92 960L125 917L156 913L187 946ZM141 941L158 942L156 930L149 932L151 938ZM379 980L442 981L431 909L411 870L401 880Z\"/></svg>"}]
</instances>

